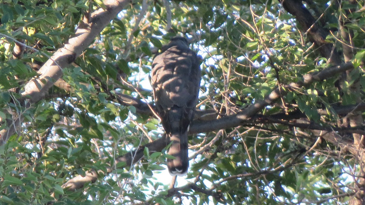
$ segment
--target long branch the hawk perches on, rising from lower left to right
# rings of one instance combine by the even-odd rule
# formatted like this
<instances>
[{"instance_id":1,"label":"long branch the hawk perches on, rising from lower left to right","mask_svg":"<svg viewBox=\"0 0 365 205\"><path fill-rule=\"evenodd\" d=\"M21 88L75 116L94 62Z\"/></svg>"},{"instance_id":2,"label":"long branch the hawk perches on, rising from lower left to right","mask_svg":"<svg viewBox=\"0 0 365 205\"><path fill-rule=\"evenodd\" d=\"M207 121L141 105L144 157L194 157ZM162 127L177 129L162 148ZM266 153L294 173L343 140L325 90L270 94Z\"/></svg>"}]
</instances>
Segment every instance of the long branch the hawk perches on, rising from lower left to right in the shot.
<instances>
[{"instance_id":1,"label":"long branch the hawk perches on, rising from lower left to right","mask_svg":"<svg viewBox=\"0 0 365 205\"><path fill-rule=\"evenodd\" d=\"M334 74L342 73L343 71L346 71L347 69L351 69L351 68L353 68L353 65L351 63L343 63L339 66L332 66L332 67L324 69L318 73L308 74L308 75L304 76L302 81L299 81L297 83L292 83L287 86L283 86L283 88L287 88L287 90L288 90L288 88L298 88L303 85L308 85L314 81L321 81L326 78L333 77ZM331 73L331 74L329 74L329 73ZM282 94L284 94L283 90L284 89L282 89L282 92L281 92ZM280 94L278 92L279 92L278 88L276 88L275 90L273 90L272 93L270 93L265 98L265 100L259 101L255 104L250 105L245 110L237 113L236 115L226 116L226 117L220 118L218 120L211 120L211 121L200 121L200 122L193 121L193 124L191 125L191 127L189 129L189 134L210 132L210 131L219 130L219 129L237 127L239 125L252 122L252 120L249 120L251 117L256 115L258 112L260 112L262 109L264 109L267 105L272 104L275 100L277 100L280 97ZM124 100L130 100L130 103L133 102L137 106L142 105L142 103L144 103L142 101L135 100L135 98L131 98L129 96L123 96L123 97L124 97ZM299 125L299 124L297 124L297 125ZM304 124L303 126L304 126L304 128L306 128L308 126L308 124ZM324 127L322 127L322 128L327 130L327 128L324 128ZM117 160L117 162L126 162L126 164L128 166L130 166L142 158L143 150L145 149L145 147L148 147L150 152L162 151L162 149L165 148L166 144L168 144L168 143L169 143L168 139L166 139L165 135L164 135L162 138L157 139L154 142L148 143L145 146L138 147L136 151L129 152L128 154L123 155L123 156L119 156L116 160ZM62 187L68 187L70 190L79 189L79 188L83 187L84 183L87 182L88 180L89 180L88 182L90 182L90 181L95 181L97 179L97 175L94 173L95 173L95 171L91 171L91 172L87 172L85 177L82 177L79 175L75 178L72 178L68 182L66 182L64 185L62 185Z\"/></svg>"}]
</instances>

